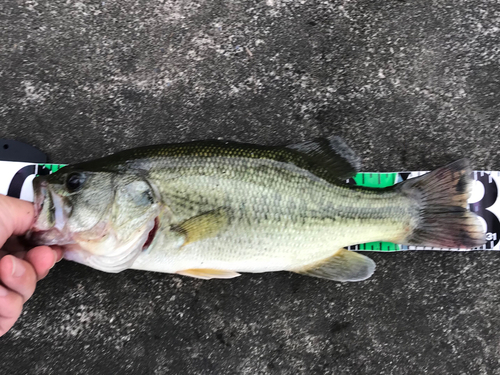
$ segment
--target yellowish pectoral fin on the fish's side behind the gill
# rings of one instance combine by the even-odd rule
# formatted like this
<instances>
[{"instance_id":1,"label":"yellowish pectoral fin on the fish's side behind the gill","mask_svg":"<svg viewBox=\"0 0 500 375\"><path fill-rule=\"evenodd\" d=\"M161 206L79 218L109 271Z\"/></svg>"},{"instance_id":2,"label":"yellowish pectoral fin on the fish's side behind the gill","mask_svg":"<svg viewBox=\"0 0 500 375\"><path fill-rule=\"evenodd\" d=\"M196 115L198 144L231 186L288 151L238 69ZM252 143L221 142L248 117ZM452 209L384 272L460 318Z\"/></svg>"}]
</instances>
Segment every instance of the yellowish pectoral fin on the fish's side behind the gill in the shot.
<instances>
[{"instance_id":1,"label":"yellowish pectoral fin on the fish's side behind the gill","mask_svg":"<svg viewBox=\"0 0 500 375\"><path fill-rule=\"evenodd\" d=\"M227 227L228 222L226 210L220 208L189 218L181 224L174 225L172 230L184 235L183 246L185 246L204 238L215 237Z\"/></svg>"}]
</instances>

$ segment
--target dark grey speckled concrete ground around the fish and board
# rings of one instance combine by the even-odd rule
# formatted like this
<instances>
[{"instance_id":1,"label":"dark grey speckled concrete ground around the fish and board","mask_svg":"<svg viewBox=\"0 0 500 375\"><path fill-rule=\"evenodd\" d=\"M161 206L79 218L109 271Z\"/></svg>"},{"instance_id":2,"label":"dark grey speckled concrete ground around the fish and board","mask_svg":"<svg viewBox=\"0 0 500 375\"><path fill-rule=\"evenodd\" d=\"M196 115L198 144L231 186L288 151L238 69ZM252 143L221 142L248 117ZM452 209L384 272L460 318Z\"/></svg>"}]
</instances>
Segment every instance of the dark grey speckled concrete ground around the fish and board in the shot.
<instances>
[{"instance_id":1,"label":"dark grey speckled concrete ground around the fish and board","mask_svg":"<svg viewBox=\"0 0 500 375\"><path fill-rule=\"evenodd\" d=\"M54 162L342 136L365 170L500 170L496 0L3 0L0 129ZM500 374L500 254L199 281L61 262L1 374Z\"/></svg>"}]
</instances>

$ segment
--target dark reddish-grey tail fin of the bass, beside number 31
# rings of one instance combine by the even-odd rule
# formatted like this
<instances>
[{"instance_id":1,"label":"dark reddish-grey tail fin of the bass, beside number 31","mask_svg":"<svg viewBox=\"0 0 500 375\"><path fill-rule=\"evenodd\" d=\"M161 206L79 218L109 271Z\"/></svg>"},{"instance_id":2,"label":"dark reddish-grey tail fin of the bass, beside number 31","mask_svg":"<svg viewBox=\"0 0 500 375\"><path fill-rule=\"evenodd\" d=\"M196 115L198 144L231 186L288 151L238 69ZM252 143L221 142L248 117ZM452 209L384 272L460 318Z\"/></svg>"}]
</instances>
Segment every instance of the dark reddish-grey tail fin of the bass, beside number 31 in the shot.
<instances>
[{"instance_id":1,"label":"dark reddish-grey tail fin of the bass, beside number 31","mask_svg":"<svg viewBox=\"0 0 500 375\"><path fill-rule=\"evenodd\" d=\"M419 207L415 226L403 243L467 249L486 242L479 217L467 209L470 175L469 161L461 159L398 186Z\"/></svg>"}]
</instances>

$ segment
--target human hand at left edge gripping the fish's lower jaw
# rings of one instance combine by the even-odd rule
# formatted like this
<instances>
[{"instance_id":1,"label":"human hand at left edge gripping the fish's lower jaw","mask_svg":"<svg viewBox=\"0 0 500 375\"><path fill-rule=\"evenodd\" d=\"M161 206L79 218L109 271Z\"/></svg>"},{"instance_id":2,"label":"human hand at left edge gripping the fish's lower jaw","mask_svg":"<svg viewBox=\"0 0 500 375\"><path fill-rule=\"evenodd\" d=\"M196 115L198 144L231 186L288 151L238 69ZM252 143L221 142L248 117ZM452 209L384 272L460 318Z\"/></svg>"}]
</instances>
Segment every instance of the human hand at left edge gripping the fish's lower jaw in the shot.
<instances>
[{"instance_id":1,"label":"human hand at left edge gripping the fish's lower jaw","mask_svg":"<svg viewBox=\"0 0 500 375\"><path fill-rule=\"evenodd\" d=\"M33 220L32 203L0 195L0 336L17 321L37 281L63 255L60 248L48 246L25 251L12 237L24 234Z\"/></svg>"}]
</instances>

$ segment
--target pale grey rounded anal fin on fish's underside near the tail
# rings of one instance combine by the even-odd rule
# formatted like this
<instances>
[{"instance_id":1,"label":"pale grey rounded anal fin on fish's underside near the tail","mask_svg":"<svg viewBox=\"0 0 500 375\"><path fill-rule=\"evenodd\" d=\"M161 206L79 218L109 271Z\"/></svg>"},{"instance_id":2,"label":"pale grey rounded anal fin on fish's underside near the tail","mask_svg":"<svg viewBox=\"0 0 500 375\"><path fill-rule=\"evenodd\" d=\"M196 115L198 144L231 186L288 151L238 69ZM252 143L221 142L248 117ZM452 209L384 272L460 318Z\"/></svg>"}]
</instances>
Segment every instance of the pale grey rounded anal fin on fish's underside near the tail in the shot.
<instances>
[{"instance_id":1,"label":"pale grey rounded anal fin on fish's underside near the tail","mask_svg":"<svg viewBox=\"0 0 500 375\"><path fill-rule=\"evenodd\" d=\"M342 249L334 256L310 267L294 270L303 275L335 281L362 281L375 271L375 262L370 258Z\"/></svg>"}]
</instances>

